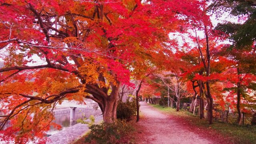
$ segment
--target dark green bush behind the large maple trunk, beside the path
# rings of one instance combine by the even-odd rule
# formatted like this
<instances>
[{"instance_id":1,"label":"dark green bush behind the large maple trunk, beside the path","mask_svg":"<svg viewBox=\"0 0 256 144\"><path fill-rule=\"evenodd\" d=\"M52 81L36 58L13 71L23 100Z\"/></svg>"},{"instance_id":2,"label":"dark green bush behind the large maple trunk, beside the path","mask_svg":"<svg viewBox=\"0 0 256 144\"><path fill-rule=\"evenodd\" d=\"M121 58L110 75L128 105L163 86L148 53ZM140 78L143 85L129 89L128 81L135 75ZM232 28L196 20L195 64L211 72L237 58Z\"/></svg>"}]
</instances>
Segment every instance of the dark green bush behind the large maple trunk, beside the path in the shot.
<instances>
[{"instance_id":1,"label":"dark green bush behind the large maple trunk, beside the path","mask_svg":"<svg viewBox=\"0 0 256 144\"><path fill-rule=\"evenodd\" d=\"M136 114L136 100L118 102L117 110L116 110L116 116L120 120L131 120L132 116Z\"/></svg>"}]
</instances>

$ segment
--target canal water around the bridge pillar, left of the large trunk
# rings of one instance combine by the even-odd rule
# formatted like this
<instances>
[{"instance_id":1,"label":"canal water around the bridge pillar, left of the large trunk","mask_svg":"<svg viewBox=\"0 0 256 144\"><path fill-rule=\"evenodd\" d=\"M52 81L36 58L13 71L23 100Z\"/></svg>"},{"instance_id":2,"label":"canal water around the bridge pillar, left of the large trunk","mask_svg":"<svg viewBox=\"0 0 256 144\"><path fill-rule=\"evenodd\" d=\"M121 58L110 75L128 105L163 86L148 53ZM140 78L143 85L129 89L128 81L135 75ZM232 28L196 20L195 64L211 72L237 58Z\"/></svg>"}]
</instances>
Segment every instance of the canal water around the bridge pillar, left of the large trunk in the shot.
<instances>
[{"instance_id":1,"label":"canal water around the bridge pillar, left of the large trunk","mask_svg":"<svg viewBox=\"0 0 256 144\"><path fill-rule=\"evenodd\" d=\"M70 108L60 109L56 110L55 112L55 120L53 120L54 123L59 124L62 126L60 130L64 130L65 128L68 128L70 126L73 126L76 124L76 120L78 119L84 119L89 118L90 115L98 115L100 114L100 110L93 110L88 108L76 108L76 114L75 114L75 120L73 122L70 122ZM60 130L57 130L54 127L51 127L50 130L47 132L48 135L56 134Z\"/></svg>"}]
</instances>

